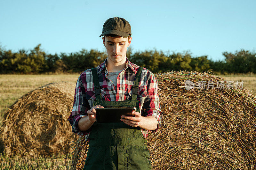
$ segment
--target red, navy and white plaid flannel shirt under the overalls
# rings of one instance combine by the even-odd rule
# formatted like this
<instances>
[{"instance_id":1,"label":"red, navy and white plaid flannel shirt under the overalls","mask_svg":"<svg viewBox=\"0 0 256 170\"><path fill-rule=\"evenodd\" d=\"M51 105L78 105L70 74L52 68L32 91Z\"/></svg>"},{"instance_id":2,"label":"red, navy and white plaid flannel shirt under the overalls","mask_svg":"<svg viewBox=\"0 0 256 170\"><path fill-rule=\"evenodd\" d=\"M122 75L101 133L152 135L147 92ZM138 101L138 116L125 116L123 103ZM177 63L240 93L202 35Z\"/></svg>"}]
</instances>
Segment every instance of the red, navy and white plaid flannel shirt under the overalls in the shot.
<instances>
[{"instance_id":1,"label":"red, navy and white plaid flannel shirt under the overalls","mask_svg":"<svg viewBox=\"0 0 256 170\"><path fill-rule=\"evenodd\" d=\"M102 100L131 100L132 99L132 85L135 78L135 74L139 68L134 63L131 63L126 58L126 67L117 77L117 89L114 84L107 78L108 70L106 69L106 61L96 67ZM106 77L107 75L107 77ZM143 69L139 82L138 98L140 100L140 113L142 116L154 116L157 119L157 128L155 130L149 130L156 132L161 126L161 117L163 112L160 110L160 102L157 92L158 84L154 74L148 69ZM92 81L92 71L87 69L80 74L76 82L74 106L70 116L68 117L69 123L72 125L72 131L79 136L86 136L86 140L91 132L91 128L86 131L80 131L78 129L78 121L80 118L87 116L87 111L92 107L93 101L96 101L94 93L94 83ZM143 136L148 136L148 130L140 128Z\"/></svg>"}]
</instances>

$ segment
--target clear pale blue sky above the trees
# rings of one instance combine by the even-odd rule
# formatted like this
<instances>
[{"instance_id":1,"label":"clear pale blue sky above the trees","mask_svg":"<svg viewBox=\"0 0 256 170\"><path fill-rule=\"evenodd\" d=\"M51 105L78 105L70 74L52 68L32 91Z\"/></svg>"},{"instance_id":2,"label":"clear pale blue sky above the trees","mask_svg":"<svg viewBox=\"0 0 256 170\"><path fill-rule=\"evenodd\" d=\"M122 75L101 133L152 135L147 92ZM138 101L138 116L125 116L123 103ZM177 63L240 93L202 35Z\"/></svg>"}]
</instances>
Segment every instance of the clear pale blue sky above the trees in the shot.
<instances>
[{"instance_id":1,"label":"clear pale blue sky above the trees","mask_svg":"<svg viewBox=\"0 0 256 170\"><path fill-rule=\"evenodd\" d=\"M46 53L104 50L108 18L132 26L134 51L190 50L224 59L222 52L256 50L256 1L0 1L0 45L13 52L41 44Z\"/></svg>"}]
</instances>

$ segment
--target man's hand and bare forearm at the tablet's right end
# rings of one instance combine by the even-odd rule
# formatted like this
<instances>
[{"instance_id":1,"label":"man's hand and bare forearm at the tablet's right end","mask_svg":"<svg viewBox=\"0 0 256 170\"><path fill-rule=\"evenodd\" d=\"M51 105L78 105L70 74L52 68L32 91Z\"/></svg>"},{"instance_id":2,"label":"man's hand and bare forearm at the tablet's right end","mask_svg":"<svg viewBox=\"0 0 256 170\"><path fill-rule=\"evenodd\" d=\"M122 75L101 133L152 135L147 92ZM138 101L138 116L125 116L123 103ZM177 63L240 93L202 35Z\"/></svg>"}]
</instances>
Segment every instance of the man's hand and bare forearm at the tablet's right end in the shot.
<instances>
[{"instance_id":1,"label":"man's hand and bare forearm at the tablet's right end","mask_svg":"<svg viewBox=\"0 0 256 170\"><path fill-rule=\"evenodd\" d=\"M121 116L121 121L125 124L128 124L132 127L139 126L142 129L146 130L155 130L157 128L157 119L154 116L141 116L139 112L132 111L132 115L134 116Z\"/></svg>"}]
</instances>

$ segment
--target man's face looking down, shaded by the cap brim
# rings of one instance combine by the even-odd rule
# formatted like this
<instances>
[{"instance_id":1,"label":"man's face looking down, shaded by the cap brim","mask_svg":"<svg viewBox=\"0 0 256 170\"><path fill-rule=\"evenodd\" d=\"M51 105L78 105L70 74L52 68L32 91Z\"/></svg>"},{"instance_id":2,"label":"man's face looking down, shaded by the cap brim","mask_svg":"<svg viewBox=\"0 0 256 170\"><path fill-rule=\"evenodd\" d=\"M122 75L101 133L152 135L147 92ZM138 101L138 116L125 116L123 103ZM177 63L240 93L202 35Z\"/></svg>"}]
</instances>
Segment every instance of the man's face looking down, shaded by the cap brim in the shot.
<instances>
[{"instance_id":1,"label":"man's face looking down, shaded by the cap brim","mask_svg":"<svg viewBox=\"0 0 256 170\"><path fill-rule=\"evenodd\" d=\"M113 63L123 63L126 61L126 51L127 48L130 46L132 37L128 40L127 38L116 36L116 37L110 37L105 36L102 37L103 44L107 49L108 58Z\"/></svg>"}]
</instances>

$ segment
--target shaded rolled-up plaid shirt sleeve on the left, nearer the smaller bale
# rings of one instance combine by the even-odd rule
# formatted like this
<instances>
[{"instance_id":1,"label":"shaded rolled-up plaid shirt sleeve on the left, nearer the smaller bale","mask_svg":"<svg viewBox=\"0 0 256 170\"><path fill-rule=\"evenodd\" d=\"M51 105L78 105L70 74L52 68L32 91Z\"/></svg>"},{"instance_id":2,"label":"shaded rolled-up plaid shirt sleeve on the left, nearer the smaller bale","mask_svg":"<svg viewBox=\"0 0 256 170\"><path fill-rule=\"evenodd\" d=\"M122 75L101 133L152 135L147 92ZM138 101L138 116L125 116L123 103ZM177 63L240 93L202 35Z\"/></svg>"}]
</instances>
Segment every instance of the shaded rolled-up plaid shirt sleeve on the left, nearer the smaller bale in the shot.
<instances>
[{"instance_id":1,"label":"shaded rolled-up plaid shirt sleeve on the left, nearer the smaller bale","mask_svg":"<svg viewBox=\"0 0 256 170\"><path fill-rule=\"evenodd\" d=\"M88 100L85 99L85 88L81 80L81 75L78 77L76 82L74 105L70 116L68 117L68 122L72 126L72 132L79 136L89 136L91 128L86 131L80 131L78 128L78 121L87 116L87 111L90 109Z\"/></svg>"}]
</instances>

